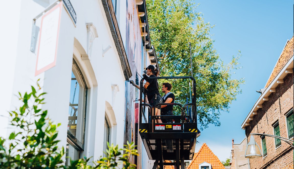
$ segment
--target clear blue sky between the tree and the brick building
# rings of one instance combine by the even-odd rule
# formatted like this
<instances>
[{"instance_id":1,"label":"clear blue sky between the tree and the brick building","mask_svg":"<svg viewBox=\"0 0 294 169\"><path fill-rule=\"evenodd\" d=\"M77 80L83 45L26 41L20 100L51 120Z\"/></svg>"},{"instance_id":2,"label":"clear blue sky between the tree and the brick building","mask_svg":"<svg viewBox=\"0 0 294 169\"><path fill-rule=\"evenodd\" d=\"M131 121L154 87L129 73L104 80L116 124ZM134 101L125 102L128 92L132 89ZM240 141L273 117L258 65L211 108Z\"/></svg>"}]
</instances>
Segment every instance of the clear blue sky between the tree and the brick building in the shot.
<instances>
[{"instance_id":1,"label":"clear blue sky between the tree and the brick building","mask_svg":"<svg viewBox=\"0 0 294 169\"><path fill-rule=\"evenodd\" d=\"M197 0L197 12L204 21L216 25L211 34L214 47L225 62L241 51L239 62L243 69L233 74L245 78L242 94L230 105L230 113L220 116L220 127L210 125L197 139L197 152L203 143L221 161L230 157L232 139L239 144L245 138L241 124L260 96L256 90L264 88L287 39L293 36L293 1L266 0Z\"/></svg>"}]
</instances>

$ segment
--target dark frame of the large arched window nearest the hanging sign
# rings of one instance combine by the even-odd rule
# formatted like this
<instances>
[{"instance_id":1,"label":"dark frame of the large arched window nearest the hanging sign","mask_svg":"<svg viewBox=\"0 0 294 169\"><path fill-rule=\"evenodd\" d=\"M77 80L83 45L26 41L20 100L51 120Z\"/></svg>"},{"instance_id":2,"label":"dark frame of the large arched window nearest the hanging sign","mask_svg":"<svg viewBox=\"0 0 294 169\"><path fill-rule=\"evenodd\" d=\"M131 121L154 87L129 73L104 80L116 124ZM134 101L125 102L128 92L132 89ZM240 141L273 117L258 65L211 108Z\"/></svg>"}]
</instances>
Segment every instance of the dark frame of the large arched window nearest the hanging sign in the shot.
<instances>
[{"instance_id":1,"label":"dark frame of the large arched window nearest the hanging sign","mask_svg":"<svg viewBox=\"0 0 294 169\"><path fill-rule=\"evenodd\" d=\"M84 91L82 91L82 96L83 96L83 100L82 103L78 103L81 107L82 110L82 129L81 129L81 141L78 140L78 138L76 136L74 136L69 130L67 130L67 142L69 144L71 144L71 146L73 146L77 151L78 151L78 155L80 157L81 151L85 150L85 135L86 135L86 118L87 118L87 102L88 102L88 86L86 83L86 80L83 76L83 73L80 69L80 67L78 66L78 63L76 62L76 60L73 58L72 61L72 72L74 74L74 76L76 77L76 81L78 81L80 88L83 88ZM80 91L78 91L80 92ZM80 95L79 95L80 96ZM78 98L78 102L80 102L81 98Z\"/></svg>"}]
</instances>

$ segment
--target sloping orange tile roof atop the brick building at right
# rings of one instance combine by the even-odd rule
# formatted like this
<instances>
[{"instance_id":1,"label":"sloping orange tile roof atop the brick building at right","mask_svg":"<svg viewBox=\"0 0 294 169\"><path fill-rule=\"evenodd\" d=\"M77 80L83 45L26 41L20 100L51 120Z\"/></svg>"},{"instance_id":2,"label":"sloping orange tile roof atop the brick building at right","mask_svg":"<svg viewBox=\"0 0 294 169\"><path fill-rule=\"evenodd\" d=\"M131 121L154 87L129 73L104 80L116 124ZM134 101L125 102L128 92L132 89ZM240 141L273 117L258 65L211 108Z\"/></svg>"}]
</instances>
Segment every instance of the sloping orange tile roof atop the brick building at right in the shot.
<instances>
[{"instance_id":1,"label":"sloping orange tile roof atop the brick building at right","mask_svg":"<svg viewBox=\"0 0 294 169\"><path fill-rule=\"evenodd\" d=\"M285 64L289 61L289 59L293 56L293 37L291 40L287 41L279 59L276 63L273 72L270 74L270 77L268 78L268 82L265 84L265 88L267 88L270 83L273 81L273 79L279 74L279 72L283 69Z\"/></svg>"}]
</instances>

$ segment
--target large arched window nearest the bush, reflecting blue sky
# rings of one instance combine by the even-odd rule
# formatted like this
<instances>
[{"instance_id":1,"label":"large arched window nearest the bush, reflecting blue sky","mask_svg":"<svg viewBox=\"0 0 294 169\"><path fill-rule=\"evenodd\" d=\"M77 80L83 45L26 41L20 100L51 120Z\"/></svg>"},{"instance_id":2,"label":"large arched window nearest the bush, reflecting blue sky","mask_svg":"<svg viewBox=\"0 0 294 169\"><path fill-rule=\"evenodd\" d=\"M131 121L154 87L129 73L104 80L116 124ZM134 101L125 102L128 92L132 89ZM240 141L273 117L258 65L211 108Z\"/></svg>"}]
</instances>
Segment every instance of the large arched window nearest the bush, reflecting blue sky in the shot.
<instances>
[{"instance_id":1,"label":"large arched window nearest the bush, reflecting blue sky","mask_svg":"<svg viewBox=\"0 0 294 169\"><path fill-rule=\"evenodd\" d=\"M66 165L84 150L88 87L78 64L73 59L71 72L69 118L67 126Z\"/></svg>"}]
</instances>

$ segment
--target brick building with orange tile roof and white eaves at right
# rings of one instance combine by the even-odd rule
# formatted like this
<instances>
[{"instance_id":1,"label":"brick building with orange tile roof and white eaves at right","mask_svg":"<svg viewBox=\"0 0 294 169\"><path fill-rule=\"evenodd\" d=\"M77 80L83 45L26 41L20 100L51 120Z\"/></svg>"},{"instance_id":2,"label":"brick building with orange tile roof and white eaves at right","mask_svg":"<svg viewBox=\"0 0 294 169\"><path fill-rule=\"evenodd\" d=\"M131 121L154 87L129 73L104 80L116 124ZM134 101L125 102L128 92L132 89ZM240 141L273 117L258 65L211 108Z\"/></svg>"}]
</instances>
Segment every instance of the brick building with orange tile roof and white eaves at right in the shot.
<instances>
[{"instance_id":1,"label":"brick building with orange tile roof and white eaves at right","mask_svg":"<svg viewBox=\"0 0 294 169\"><path fill-rule=\"evenodd\" d=\"M242 124L246 137L264 133L293 140L293 37L288 40L265 88ZM293 148L285 141L254 136L262 157L250 168L293 168ZM248 140L249 141L249 140Z\"/></svg>"}]
</instances>

